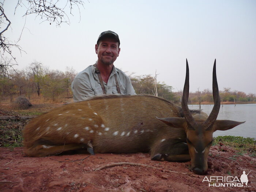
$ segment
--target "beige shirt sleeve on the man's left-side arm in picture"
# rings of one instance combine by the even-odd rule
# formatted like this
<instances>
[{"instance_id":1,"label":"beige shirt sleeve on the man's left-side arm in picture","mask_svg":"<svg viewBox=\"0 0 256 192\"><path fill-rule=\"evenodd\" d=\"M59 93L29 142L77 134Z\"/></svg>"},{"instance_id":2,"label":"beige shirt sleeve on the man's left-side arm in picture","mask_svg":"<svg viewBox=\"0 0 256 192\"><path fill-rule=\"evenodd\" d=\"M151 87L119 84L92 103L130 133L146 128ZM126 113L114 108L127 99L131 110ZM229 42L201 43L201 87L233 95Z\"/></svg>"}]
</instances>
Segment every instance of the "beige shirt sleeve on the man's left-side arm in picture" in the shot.
<instances>
[{"instance_id":1,"label":"beige shirt sleeve on the man's left-side arm in picture","mask_svg":"<svg viewBox=\"0 0 256 192\"><path fill-rule=\"evenodd\" d=\"M84 101L94 96L94 91L89 82L89 78L75 77L71 84L71 89L73 91L73 99L75 102Z\"/></svg>"}]
</instances>

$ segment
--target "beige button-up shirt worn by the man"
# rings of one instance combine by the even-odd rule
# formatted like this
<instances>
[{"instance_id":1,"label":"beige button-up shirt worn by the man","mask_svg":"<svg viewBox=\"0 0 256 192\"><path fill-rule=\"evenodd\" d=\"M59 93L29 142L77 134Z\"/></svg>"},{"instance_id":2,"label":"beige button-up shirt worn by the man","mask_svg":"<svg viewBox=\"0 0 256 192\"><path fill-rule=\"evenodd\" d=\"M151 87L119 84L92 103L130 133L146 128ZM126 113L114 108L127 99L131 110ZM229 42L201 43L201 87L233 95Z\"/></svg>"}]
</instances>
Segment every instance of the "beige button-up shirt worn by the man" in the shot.
<instances>
[{"instance_id":1,"label":"beige button-up shirt worn by the man","mask_svg":"<svg viewBox=\"0 0 256 192\"><path fill-rule=\"evenodd\" d=\"M103 82L106 95L118 94L114 74L117 75L117 81L122 95L136 95L129 77L114 66L109 76L108 83ZM95 95L103 95L101 83L99 82L98 75L95 73L95 67L93 65L90 65L76 75L71 84L71 89L75 102L84 101Z\"/></svg>"}]
</instances>

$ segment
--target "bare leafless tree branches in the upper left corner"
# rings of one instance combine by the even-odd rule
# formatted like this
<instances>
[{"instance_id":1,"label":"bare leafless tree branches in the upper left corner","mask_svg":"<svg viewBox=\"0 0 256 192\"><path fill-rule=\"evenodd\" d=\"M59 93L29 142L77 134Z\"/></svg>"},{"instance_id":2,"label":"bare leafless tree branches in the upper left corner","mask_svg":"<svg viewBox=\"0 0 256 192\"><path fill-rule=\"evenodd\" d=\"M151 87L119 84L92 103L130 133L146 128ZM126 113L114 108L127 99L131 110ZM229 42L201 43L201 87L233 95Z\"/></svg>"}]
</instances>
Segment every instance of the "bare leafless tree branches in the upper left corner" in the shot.
<instances>
[{"instance_id":1,"label":"bare leafless tree branches in the upper left corner","mask_svg":"<svg viewBox=\"0 0 256 192\"><path fill-rule=\"evenodd\" d=\"M64 7L60 7L60 2L65 2ZM4 3L5 0L0 2L0 54L3 58L3 55L7 52L16 61L16 58L12 55L12 49L17 48L20 52L23 50L17 44L18 42L13 43L4 35L4 32L11 26L11 21L8 19L8 15L4 12ZM47 21L50 25L55 23L56 26L60 26L61 23L69 24L69 18L65 9L66 7L69 6L69 14L71 15L73 15L72 10L74 7L77 7L80 15L80 7L83 7L83 5L83 0L18 0L15 11L20 7L25 7L26 12L23 16L26 17L27 15L34 14L36 17L39 17L42 22Z\"/></svg>"}]
</instances>

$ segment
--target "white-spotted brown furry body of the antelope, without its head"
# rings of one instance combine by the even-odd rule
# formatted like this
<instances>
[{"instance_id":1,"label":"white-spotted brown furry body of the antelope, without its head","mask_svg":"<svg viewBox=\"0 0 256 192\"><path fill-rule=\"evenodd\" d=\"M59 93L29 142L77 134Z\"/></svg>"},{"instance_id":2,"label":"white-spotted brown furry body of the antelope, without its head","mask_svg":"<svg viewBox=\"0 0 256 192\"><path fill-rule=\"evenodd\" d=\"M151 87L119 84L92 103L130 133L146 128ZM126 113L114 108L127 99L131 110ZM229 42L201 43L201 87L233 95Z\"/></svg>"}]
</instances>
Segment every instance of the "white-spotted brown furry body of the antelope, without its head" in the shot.
<instances>
[{"instance_id":1,"label":"white-spotted brown furry body of the antelope, without its head","mask_svg":"<svg viewBox=\"0 0 256 192\"><path fill-rule=\"evenodd\" d=\"M24 129L25 153L52 155L69 150L69 144L87 148L91 143L95 153L151 150L153 157L161 148L162 153L175 154L173 145L185 142L184 130L170 128L156 117L180 115L180 107L150 95L95 97L61 106L31 120ZM162 139L165 141L161 142ZM74 149L74 145L70 147Z\"/></svg>"}]
</instances>

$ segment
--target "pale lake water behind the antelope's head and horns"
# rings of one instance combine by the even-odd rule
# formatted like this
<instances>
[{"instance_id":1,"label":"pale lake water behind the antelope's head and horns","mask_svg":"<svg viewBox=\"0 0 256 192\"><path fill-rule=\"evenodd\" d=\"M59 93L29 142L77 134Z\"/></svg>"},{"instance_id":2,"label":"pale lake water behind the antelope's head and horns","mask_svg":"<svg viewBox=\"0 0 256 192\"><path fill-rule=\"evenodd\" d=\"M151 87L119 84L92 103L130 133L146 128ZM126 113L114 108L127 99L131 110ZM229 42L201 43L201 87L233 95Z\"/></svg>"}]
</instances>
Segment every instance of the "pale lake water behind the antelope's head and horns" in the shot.
<instances>
[{"instance_id":1,"label":"pale lake water behind the antelope's head and horns","mask_svg":"<svg viewBox=\"0 0 256 192\"><path fill-rule=\"evenodd\" d=\"M189 109L199 109L199 105L188 105ZM208 115L211 113L213 105L201 105L201 109ZM244 124L238 125L226 131L215 131L213 136L242 136L256 138L256 104L237 104L221 105L217 119L246 121Z\"/></svg>"}]
</instances>

